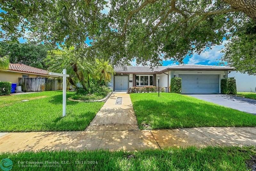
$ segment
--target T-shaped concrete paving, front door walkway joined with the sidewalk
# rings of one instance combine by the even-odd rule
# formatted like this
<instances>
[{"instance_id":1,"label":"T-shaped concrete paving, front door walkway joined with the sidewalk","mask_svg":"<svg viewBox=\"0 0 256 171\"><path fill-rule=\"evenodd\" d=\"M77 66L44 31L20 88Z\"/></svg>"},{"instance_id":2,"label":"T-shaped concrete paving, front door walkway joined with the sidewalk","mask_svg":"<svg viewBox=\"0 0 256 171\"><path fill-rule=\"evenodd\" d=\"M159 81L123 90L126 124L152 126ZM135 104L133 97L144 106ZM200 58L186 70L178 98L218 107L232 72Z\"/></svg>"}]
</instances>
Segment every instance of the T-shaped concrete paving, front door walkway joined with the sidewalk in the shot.
<instances>
[{"instance_id":1,"label":"T-shaped concrete paving, front door walkway joined with the sidewalk","mask_svg":"<svg viewBox=\"0 0 256 171\"><path fill-rule=\"evenodd\" d=\"M116 105L117 97L122 97L121 105ZM129 94L113 93L85 131L0 133L0 152L134 151L208 145L256 145L256 127L138 130Z\"/></svg>"}]
</instances>

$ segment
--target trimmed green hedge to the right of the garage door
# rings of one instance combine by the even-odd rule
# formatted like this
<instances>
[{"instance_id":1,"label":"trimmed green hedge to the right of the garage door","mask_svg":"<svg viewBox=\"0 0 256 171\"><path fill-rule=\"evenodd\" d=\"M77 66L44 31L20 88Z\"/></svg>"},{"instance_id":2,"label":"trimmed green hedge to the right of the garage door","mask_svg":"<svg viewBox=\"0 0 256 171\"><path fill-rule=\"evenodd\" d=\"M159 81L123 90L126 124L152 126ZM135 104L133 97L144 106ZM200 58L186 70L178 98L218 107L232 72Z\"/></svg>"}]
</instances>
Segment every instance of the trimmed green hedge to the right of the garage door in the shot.
<instances>
[{"instance_id":1,"label":"trimmed green hedge to the right of the garage door","mask_svg":"<svg viewBox=\"0 0 256 171\"><path fill-rule=\"evenodd\" d=\"M222 94L236 94L236 81L234 78L222 79L220 82Z\"/></svg>"}]
</instances>

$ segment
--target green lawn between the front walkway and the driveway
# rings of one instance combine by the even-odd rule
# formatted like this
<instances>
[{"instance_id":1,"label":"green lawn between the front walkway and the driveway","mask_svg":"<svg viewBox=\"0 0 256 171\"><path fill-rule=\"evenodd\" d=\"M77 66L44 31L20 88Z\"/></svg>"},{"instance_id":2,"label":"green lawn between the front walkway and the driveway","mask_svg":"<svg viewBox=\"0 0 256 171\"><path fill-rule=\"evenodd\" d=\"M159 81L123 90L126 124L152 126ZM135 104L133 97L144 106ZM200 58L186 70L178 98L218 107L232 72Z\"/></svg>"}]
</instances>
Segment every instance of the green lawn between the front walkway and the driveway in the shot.
<instances>
[{"instance_id":1,"label":"green lawn between the front walkway and the driveway","mask_svg":"<svg viewBox=\"0 0 256 171\"><path fill-rule=\"evenodd\" d=\"M256 115L176 93L130 94L140 129L255 127Z\"/></svg>"}]
</instances>

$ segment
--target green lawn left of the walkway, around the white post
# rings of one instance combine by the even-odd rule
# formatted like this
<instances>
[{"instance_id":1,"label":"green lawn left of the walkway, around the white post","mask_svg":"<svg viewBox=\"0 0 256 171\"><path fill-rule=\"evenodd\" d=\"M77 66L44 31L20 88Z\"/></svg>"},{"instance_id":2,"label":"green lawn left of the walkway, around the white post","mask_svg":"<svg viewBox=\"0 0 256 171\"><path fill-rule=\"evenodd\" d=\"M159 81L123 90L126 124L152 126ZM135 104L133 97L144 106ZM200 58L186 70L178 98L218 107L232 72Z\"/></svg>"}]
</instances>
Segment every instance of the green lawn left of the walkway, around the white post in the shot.
<instances>
[{"instance_id":1,"label":"green lawn left of the walkway, around the white post","mask_svg":"<svg viewBox=\"0 0 256 171\"><path fill-rule=\"evenodd\" d=\"M67 92L67 98L74 92ZM27 102L21 100L28 99ZM84 130L103 102L67 100L62 117L62 91L47 91L0 97L0 132Z\"/></svg>"}]
</instances>

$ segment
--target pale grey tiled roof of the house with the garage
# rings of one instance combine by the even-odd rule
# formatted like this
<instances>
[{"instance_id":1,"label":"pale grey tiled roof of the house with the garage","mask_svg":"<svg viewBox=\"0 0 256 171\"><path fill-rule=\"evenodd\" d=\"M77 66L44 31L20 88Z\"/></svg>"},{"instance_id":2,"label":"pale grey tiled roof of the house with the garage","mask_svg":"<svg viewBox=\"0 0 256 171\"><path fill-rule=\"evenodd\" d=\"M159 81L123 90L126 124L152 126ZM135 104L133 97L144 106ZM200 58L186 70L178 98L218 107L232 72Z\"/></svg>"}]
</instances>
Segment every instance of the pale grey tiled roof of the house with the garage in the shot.
<instances>
[{"instance_id":1,"label":"pale grey tiled roof of the house with the garage","mask_svg":"<svg viewBox=\"0 0 256 171\"><path fill-rule=\"evenodd\" d=\"M150 66L115 66L114 70L116 73L160 73L168 70L234 70L234 67L181 64L174 66L156 66L153 68L150 68Z\"/></svg>"}]
</instances>

